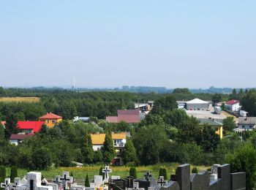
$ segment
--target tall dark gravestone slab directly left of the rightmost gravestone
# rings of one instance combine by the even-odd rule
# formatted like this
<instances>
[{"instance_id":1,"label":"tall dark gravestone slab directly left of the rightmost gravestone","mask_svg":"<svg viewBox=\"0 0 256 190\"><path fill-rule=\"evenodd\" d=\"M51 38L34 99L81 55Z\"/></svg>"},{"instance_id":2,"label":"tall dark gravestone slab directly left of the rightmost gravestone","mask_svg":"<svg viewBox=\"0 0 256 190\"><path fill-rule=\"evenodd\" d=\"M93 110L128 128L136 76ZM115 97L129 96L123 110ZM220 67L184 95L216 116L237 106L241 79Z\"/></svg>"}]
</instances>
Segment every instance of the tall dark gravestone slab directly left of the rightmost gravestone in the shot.
<instances>
[{"instance_id":1,"label":"tall dark gravestone slab directly left of the rightmost gravestone","mask_svg":"<svg viewBox=\"0 0 256 190\"><path fill-rule=\"evenodd\" d=\"M230 164L218 167L218 178L222 179L222 190L230 190Z\"/></svg>"}]
</instances>

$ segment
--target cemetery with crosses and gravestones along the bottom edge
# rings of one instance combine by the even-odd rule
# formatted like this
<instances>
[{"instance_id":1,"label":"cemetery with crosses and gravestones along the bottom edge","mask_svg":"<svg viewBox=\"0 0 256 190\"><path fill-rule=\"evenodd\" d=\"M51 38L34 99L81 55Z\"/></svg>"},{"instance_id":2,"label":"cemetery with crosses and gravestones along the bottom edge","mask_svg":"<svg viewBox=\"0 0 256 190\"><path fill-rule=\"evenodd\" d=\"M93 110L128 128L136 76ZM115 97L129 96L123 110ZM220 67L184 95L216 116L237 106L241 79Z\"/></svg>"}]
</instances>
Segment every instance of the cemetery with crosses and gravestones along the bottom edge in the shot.
<instances>
[{"instance_id":1,"label":"cemetery with crosses and gravestones along the bottom edge","mask_svg":"<svg viewBox=\"0 0 256 190\"><path fill-rule=\"evenodd\" d=\"M164 176L151 175L147 171L143 178L121 178L118 175L111 175L112 170L109 166L102 169L103 175L94 175L94 180L89 186L78 184L69 175L69 172L62 172L52 180L42 178L41 172L28 172L22 179L15 178L10 182L6 178L1 183L1 188L5 190L93 190L93 189L170 189L170 190L243 190L246 189L245 172L230 173L230 164L213 165L211 171L190 172L190 164L179 165L175 175L170 175L169 179ZM168 177L167 177L168 178Z\"/></svg>"}]
</instances>

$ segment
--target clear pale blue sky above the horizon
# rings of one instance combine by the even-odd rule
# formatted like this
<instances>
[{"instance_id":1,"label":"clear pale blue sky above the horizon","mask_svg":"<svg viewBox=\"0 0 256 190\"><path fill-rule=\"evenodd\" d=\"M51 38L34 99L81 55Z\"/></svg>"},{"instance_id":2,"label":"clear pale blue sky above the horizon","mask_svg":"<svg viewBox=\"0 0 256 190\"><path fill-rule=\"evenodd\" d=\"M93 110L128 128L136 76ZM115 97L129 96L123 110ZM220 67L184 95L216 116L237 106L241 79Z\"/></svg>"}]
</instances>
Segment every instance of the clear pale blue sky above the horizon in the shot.
<instances>
[{"instance_id":1,"label":"clear pale blue sky above the horizon","mask_svg":"<svg viewBox=\"0 0 256 190\"><path fill-rule=\"evenodd\" d=\"M0 86L256 87L256 1L0 1Z\"/></svg>"}]
</instances>

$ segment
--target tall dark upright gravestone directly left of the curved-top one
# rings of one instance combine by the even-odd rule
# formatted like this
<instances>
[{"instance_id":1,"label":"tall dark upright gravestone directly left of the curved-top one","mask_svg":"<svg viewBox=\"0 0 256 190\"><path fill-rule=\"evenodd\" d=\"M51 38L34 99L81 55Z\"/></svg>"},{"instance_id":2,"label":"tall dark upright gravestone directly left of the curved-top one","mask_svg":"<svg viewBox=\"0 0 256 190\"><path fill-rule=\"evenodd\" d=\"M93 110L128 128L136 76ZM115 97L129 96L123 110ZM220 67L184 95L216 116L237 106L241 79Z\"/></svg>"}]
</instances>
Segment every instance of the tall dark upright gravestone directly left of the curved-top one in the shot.
<instances>
[{"instance_id":1,"label":"tall dark upright gravestone directly left of the curved-top one","mask_svg":"<svg viewBox=\"0 0 256 190\"><path fill-rule=\"evenodd\" d=\"M176 175L180 189L190 190L190 164L183 164L178 166Z\"/></svg>"}]
</instances>

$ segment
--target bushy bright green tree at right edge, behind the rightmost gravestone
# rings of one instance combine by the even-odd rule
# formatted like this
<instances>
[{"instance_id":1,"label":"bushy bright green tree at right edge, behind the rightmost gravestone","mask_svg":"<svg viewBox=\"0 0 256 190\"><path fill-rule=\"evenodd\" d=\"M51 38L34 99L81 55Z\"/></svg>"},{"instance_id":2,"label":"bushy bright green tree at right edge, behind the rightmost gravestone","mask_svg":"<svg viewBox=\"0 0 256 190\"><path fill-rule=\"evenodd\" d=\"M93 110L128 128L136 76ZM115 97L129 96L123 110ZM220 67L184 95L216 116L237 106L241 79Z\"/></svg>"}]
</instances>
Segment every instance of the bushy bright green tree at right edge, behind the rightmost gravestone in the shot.
<instances>
[{"instance_id":1,"label":"bushy bright green tree at right edge, behind the rightmost gravestone","mask_svg":"<svg viewBox=\"0 0 256 190\"><path fill-rule=\"evenodd\" d=\"M246 189L255 186L256 151L250 144L237 148L227 154L227 163L230 163L231 172L246 172Z\"/></svg>"}]
</instances>

